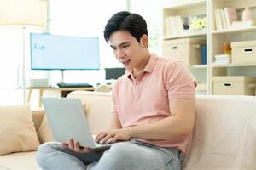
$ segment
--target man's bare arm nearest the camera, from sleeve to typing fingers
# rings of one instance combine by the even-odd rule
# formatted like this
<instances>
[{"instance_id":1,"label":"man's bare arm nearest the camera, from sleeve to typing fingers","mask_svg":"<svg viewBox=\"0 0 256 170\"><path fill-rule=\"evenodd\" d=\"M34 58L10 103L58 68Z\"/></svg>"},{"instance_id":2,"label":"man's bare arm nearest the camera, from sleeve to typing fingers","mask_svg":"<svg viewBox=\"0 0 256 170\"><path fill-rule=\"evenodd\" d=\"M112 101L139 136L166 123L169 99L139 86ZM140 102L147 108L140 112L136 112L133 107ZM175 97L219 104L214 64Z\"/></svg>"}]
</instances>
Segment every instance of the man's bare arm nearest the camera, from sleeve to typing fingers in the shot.
<instances>
[{"instance_id":1,"label":"man's bare arm nearest the camera, from sleeve to typing fingers","mask_svg":"<svg viewBox=\"0 0 256 170\"><path fill-rule=\"evenodd\" d=\"M195 99L170 99L169 105L172 116L158 122L102 132L96 140L165 140L191 133L195 123Z\"/></svg>"}]
</instances>

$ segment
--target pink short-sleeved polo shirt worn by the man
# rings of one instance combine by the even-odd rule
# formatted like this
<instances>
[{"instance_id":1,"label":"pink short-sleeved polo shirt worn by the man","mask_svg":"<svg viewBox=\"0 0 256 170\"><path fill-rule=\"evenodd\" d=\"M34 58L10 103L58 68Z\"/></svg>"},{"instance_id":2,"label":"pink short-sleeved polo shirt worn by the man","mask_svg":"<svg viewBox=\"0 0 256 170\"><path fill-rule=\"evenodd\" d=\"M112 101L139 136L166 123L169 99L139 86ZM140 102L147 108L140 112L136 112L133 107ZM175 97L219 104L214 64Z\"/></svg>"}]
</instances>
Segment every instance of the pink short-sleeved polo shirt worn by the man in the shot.
<instances>
[{"instance_id":1,"label":"pink short-sleeved polo shirt worn by the man","mask_svg":"<svg viewBox=\"0 0 256 170\"><path fill-rule=\"evenodd\" d=\"M162 59L151 54L137 78L126 71L113 88L113 111L122 127L157 122L172 116L169 99L194 99L195 77L177 59ZM142 140L161 147L174 147L185 153L190 134L161 141Z\"/></svg>"}]
</instances>

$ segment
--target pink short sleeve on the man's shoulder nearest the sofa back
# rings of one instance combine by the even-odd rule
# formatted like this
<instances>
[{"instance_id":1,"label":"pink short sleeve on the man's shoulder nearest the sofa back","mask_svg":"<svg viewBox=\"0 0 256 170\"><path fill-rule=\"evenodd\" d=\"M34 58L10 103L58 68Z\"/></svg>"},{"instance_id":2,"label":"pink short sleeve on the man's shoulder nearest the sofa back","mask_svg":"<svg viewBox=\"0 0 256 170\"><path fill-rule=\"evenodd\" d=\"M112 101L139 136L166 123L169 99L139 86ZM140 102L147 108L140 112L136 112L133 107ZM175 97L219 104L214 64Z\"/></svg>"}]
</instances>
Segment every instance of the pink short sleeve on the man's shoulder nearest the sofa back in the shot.
<instances>
[{"instance_id":1,"label":"pink short sleeve on the man's shoulder nearest the sofa back","mask_svg":"<svg viewBox=\"0 0 256 170\"><path fill-rule=\"evenodd\" d=\"M169 99L194 99L195 77L181 61L168 63L166 89Z\"/></svg>"}]
</instances>

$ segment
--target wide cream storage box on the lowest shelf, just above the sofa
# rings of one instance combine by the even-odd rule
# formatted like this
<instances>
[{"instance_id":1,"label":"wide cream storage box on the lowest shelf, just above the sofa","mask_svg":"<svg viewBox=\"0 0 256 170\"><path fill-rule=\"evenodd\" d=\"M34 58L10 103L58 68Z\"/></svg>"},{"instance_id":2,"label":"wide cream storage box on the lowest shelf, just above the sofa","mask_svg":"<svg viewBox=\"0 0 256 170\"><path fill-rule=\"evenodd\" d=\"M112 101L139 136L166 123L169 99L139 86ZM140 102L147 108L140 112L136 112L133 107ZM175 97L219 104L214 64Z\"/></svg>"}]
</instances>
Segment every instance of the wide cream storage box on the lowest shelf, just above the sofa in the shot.
<instances>
[{"instance_id":1,"label":"wide cream storage box on the lowest shelf, just above the sofa","mask_svg":"<svg viewBox=\"0 0 256 170\"><path fill-rule=\"evenodd\" d=\"M214 95L255 95L256 77L212 77Z\"/></svg>"}]
</instances>

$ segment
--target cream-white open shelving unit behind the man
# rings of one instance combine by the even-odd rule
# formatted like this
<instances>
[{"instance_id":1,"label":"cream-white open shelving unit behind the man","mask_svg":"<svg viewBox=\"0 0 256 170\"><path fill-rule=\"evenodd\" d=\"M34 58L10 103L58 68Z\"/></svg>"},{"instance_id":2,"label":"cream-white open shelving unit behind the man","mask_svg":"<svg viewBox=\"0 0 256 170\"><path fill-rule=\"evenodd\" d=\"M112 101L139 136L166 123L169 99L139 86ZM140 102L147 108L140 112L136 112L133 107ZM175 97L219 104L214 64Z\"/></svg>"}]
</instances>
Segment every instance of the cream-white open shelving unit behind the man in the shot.
<instances>
[{"instance_id":1,"label":"cream-white open shelving unit behind the man","mask_svg":"<svg viewBox=\"0 0 256 170\"><path fill-rule=\"evenodd\" d=\"M251 9L253 20L256 20L256 1L255 0L186 0L172 1L172 7L163 9L163 42L177 40L181 38L194 37L205 39L207 42L207 65L189 65L189 70L195 75L198 82L201 83L197 89L205 91L205 94L212 94L212 77L215 76L248 76L256 77L256 64L246 65L214 65L214 55L223 54L224 42L241 42L256 40L256 26L247 26L231 28L225 30L216 30L214 10L217 8L235 8L238 19L241 20L241 12L244 8ZM207 30L190 32L185 35L167 36L166 18L169 16L196 16L205 14L207 16ZM163 46L164 47L164 46ZM163 52L168 50L163 48ZM165 53L163 53L165 54ZM165 57L165 56L164 56ZM175 56L173 56L175 57ZM256 57L256 56L255 56Z\"/></svg>"}]
</instances>

